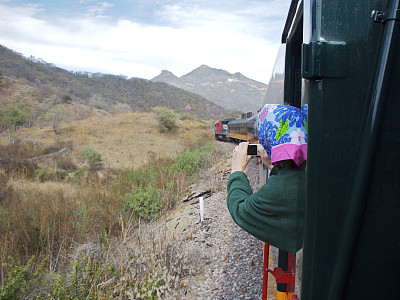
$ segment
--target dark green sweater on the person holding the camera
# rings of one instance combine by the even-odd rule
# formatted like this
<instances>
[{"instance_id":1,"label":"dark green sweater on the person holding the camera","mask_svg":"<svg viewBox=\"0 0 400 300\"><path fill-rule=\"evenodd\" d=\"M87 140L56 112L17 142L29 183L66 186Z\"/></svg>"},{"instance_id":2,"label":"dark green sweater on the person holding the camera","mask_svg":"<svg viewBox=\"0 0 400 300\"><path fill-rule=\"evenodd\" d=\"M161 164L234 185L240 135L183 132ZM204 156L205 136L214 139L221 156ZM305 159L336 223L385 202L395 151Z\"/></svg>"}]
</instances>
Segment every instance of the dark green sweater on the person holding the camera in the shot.
<instances>
[{"instance_id":1,"label":"dark green sweater on the person holding the camera","mask_svg":"<svg viewBox=\"0 0 400 300\"><path fill-rule=\"evenodd\" d=\"M231 174L227 204L233 220L248 233L295 254L303 244L305 171L274 167L254 193L243 172Z\"/></svg>"}]
</instances>

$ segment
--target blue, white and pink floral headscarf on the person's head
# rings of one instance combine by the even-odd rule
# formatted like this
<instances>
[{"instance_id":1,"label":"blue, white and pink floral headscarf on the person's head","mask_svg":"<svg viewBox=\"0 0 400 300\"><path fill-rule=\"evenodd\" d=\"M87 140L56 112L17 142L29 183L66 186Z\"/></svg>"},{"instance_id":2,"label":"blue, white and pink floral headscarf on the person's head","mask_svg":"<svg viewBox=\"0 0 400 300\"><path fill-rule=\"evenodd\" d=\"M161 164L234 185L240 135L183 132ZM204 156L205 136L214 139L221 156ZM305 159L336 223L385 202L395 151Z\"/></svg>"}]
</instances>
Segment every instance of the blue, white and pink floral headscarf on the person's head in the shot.
<instances>
[{"instance_id":1,"label":"blue, white and pink floral headscarf on the person's head","mask_svg":"<svg viewBox=\"0 0 400 300\"><path fill-rule=\"evenodd\" d=\"M308 106L266 104L258 116L258 139L271 162L307 160Z\"/></svg>"}]
</instances>

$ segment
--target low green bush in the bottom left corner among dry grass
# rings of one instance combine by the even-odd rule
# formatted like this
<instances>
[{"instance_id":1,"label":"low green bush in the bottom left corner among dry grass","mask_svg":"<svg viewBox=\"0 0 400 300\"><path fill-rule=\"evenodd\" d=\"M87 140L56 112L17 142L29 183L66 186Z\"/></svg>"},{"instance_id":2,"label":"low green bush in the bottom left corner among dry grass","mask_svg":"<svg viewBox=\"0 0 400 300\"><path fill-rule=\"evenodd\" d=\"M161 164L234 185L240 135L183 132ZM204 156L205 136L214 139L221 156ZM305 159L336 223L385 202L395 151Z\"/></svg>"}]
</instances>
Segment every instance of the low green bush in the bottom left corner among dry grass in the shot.
<instances>
[{"instance_id":1,"label":"low green bush in the bottom left corner among dry grass","mask_svg":"<svg viewBox=\"0 0 400 300\"><path fill-rule=\"evenodd\" d=\"M10 257L9 262L3 264L8 276L0 287L0 300L100 299L102 295L96 291L96 286L102 276L118 275L112 265L104 269L103 260L100 248L84 250L66 266L66 273L56 275L46 270L47 257L35 261L32 256L26 265Z\"/></svg>"}]
</instances>

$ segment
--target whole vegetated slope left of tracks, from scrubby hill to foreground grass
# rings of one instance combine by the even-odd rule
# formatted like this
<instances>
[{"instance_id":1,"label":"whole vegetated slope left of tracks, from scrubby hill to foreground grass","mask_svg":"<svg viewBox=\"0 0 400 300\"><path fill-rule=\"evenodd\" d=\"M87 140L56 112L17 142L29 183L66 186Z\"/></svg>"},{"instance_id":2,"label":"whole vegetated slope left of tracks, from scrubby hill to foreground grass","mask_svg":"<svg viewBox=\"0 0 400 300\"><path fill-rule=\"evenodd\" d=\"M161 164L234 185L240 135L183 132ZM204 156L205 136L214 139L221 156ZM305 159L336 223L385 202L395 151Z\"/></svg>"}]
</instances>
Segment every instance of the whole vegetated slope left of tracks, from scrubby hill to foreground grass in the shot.
<instances>
[{"instance_id":1,"label":"whole vegetated slope left of tracks, from scrubby hill to foreground grass","mask_svg":"<svg viewBox=\"0 0 400 300\"><path fill-rule=\"evenodd\" d=\"M143 224L213 159L207 119L222 111L0 46L0 299L157 299L178 287L192 258Z\"/></svg>"}]
</instances>

